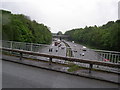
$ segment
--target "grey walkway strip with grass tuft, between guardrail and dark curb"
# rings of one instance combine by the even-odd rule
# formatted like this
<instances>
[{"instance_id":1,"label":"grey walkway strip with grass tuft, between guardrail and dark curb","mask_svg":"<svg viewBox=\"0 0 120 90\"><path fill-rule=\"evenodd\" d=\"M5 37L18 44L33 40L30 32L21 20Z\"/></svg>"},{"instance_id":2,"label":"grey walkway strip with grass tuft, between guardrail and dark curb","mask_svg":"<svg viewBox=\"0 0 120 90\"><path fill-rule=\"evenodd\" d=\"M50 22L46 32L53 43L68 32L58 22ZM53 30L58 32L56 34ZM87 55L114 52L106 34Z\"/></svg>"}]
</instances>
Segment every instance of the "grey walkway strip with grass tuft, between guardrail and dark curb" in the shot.
<instances>
[{"instance_id":1,"label":"grey walkway strip with grass tuft, between guardrail and dark curb","mask_svg":"<svg viewBox=\"0 0 120 90\"><path fill-rule=\"evenodd\" d=\"M2 55L2 59L4 59L4 60L8 60L9 59L9 61L14 61L14 62L18 62L18 63L24 63L24 64L37 66L37 67L41 67L41 68L48 69L48 70L59 71L59 72L64 72L64 73L67 73L67 74L77 75L77 76L81 76L81 77L92 78L92 79L89 79L90 80L89 83L91 83L91 81L94 81L94 79L98 79L98 81L95 81L95 82L104 82L104 81L99 81L99 80L105 80L107 82L104 82L104 83L111 82L110 84L119 82L118 74L114 74L114 73L99 72L99 71L92 71L92 73L89 73L89 70L87 70L87 69L80 69L78 71L70 73L70 72L67 71L68 68L66 66L60 65L60 64L53 63L52 65L49 65L45 61L34 61L34 60L30 60L30 59L22 59L22 61L20 61L19 57L8 56L8 55ZM5 66L4 66L4 63L3 63L3 71L4 71L4 68L5 68ZM81 81L80 81L80 83L81 83ZM99 87L101 85L97 85L97 86ZM97 86L91 86L91 87L97 87ZM114 86L114 84L113 84L113 86ZM65 87L67 87L67 86L65 86ZM84 85L83 85L83 87L84 87ZM89 86L89 88L90 88L90 86Z\"/></svg>"}]
</instances>

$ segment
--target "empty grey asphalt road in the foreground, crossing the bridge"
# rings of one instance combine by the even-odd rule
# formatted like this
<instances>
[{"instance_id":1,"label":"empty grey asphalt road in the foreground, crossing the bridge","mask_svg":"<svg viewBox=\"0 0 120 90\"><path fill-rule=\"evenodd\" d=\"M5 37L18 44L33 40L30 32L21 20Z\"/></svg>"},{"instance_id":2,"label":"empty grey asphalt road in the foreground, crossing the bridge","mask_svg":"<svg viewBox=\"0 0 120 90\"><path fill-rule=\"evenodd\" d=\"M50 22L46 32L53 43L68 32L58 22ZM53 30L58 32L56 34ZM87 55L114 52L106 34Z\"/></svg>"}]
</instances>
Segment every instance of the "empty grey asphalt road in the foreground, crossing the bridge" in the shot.
<instances>
[{"instance_id":1,"label":"empty grey asphalt road in the foreground, crossing the bridge","mask_svg":"<svg viewBox=\"0 0 120 90\"><path fill-rule=\"evenodd\" d=\"M2 61L3 88L118 88L117 84Z\"/></svg>"}]
</instances>

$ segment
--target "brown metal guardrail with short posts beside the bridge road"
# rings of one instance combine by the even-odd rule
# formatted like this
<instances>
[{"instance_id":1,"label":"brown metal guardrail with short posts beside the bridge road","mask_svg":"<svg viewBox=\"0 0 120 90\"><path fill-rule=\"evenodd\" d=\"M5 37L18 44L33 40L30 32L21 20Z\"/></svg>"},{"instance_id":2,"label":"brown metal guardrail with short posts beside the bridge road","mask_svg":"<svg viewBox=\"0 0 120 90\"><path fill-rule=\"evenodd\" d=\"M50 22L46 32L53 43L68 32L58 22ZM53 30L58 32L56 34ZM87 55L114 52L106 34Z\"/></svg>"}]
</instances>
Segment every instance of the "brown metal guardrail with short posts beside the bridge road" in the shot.
<instances>
[{"instance_id":1,"label":"brown metal guardrail with short posts beside the bridge road","mask_svg":"<svg viewBox=\"0 0 120 90\"><path fill-rule=\"evenodd\" d=\"M25 50L18 50L18 49L10 49L10 48L0 48L1 50L5 51L11 51L11 52L17 52L20 53L20 60L22 60L23 54L29 54L29 55L37 55L37 56L42 56L42 57L48 57L49 58L49 65L52 64L52 59L61 59L65 61L71 61L71 62L79 62L79 63L86 63L89 64L89 73L91 73L91 69L93 68L93 65L101 65L101 66L107 66L107 67L112 67L112 68L118 68L120 69L120 63L107 63L107 62L102 62L102 61L91 61L91 60L82 60L78 58L73 58L73 57L63 57L63 56L55 56L55 55L49 55L49 54L42 54L38 52L32 52L32 51L25 51Z\"/></svg>"}]
</instances>

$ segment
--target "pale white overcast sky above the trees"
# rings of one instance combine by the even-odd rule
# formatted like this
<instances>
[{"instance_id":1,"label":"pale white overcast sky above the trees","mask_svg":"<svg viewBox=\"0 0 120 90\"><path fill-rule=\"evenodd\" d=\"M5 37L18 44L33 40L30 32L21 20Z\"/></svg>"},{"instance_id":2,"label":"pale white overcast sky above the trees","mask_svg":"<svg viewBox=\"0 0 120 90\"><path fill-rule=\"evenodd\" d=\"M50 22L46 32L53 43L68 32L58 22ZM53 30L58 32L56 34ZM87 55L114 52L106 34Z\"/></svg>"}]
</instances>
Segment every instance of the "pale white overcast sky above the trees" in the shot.
<instances>
[{"instance_id":1,"label":"pale white overcast sky above the trees","mask_svg":"<svg viewBox=\"0 0 120 90\"><path fill-rule=\"evenodd\" d=\"M1 9L30 16L57 33L118 19L119 0L2 0Z\"/></svg>"}]
</instances>

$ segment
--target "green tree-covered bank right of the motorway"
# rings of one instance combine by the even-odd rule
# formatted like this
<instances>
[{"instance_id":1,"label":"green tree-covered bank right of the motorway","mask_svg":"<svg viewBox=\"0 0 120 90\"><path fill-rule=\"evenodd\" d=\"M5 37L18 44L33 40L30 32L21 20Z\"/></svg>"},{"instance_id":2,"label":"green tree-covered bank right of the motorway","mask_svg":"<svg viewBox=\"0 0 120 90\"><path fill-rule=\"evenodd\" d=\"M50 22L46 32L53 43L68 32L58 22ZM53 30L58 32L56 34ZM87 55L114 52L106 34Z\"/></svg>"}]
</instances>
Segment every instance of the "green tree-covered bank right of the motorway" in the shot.
<instances>
[{"instance_id":1,"label":"green tree-covered bank right of the motorway","mask_svg":"<svg viewBox=\"0 0 120 90\"><path fill-rule=\"evenodd\" d=\"M120 20L110 21L100 27L86 26L84 29L72 29L65 34L70 36L71 41L98 49L120 51Z\"/></svg>"}]
</instances>

